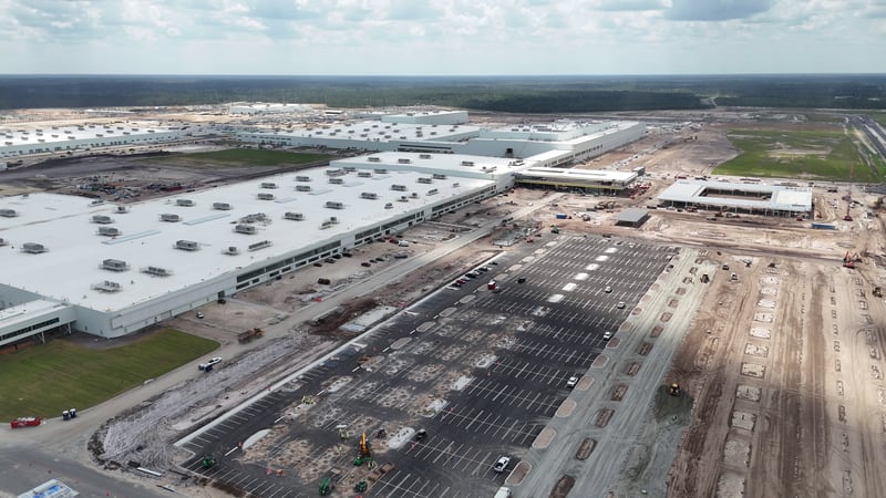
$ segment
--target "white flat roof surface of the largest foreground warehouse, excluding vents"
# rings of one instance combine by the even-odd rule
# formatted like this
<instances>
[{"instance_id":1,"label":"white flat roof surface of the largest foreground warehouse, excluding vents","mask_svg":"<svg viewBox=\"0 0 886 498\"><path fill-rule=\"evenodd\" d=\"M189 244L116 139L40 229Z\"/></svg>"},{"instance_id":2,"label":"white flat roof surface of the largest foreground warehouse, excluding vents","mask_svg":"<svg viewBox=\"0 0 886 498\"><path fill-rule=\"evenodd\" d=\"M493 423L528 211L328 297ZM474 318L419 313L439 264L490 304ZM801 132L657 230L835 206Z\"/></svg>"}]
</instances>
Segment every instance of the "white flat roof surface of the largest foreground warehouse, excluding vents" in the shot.
<instances>
[{"instance_id":1,"label":"white flat roof surface of the largest foreground warehouse, excluding vents","mask_svg":"<svg viewBox=\"0 0 886 498\"><path fill-rule=\"evenodd\" d=\"M484 158L485 159L485 158ZM379 165L365 163L368 172ZM435 179L420 184L427 174L390 170L359 177L349 173L343 184L329 184L326 170L315 168L292 174L265 177L241 184L223 186L175 197L145 201L120 214L113 205L92 205L90 199L54 194L31 194L28 197L0 198L0 209L14 209L16 217L0 217L0 237L8 245L0 247L3 271L0 283L37 294L66 301L99 311L115 311L148 301L164 293L198 284L202 281L246 268L271 257L299 248L310 249L339 240L361 227L377 226L380 220L393 219L420 206L445 201L463 193L491 185L486 179ZM310 181L296 181L297 176ZM278 188L262 188L274 183ZM455 186L455 184L459 184ZM394 184L405 185L406 191L392 190ZM296 186L310 186L311 191L296 191ZM427 195L436 189L436 195ZM274 200L259 200L259 193L270 194ZM374 193L378 199L363 199L361 193ZM401 196L419 194L415 199L398 201ZM177 200L194 206L178 206ZM324 207L327 201L343 203L343 209ZM213 208L214 203L228 203L230 210ZM385 209L391 203L392 208ZM287 211L301 212L303 221L284 219ZM254 224L256 235L234 232L237 221L254 214L265 214L267 222ZM161 215L178 215L178 222L161 221ZM113 224L99 225L93 216L107 216ZM337 217L339 222L322 229L321 224ZM99 236L99 227L121 230L119 237ZM199 250L174 249L178 240L199 243ZM248 251L251 243L268 240L271 246ZM37 242L48 252L22 252L22 245ZM238 247L240 252L228 256L223 251ZM126 271L101 269L106 259L124 261ZM157 267L171 272L155 277L140 271ZM120 284L117 292L93 290L105 280Z\"/></svg>"}]
</instances>

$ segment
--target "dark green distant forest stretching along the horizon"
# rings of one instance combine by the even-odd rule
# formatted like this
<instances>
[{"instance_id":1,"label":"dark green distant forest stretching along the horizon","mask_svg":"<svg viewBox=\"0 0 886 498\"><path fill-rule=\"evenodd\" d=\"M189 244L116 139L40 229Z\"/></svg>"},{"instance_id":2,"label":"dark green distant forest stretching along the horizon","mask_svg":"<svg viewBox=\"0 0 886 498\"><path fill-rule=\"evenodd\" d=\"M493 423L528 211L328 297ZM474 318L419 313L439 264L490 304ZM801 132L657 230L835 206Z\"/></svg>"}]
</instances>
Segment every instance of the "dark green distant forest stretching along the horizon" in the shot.
<instances>
[{"instance_id":1,"label":"dark green distant forest stretching along the horizon","mask_svg":"<svg viewBox=\"0 0 886 498\"><path fill-rule=\"evenodd\" d=\"M886 75L0 76L0 108L147 107L235 101L331 107L441 105L571 113L717 106L886 108Z\"/></svg>"}]
</instances>

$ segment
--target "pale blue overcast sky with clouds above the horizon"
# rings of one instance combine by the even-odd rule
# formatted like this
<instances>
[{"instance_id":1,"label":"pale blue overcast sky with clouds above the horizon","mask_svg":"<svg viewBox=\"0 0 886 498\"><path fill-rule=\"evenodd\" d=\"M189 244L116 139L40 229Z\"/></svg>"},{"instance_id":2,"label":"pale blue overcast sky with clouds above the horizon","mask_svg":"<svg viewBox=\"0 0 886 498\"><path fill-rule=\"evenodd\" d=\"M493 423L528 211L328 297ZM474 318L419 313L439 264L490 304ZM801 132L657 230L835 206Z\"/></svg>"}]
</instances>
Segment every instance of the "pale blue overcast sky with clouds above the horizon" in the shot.
<instances>
[{"instance_id":1,"label":"pale blue overcast sky with clouds above the horizon","mask_svg":"<svg viewBox=\"0 0 886 498\"><path fill-rule=\"evenodd\" d=\"M0 73L886 72L886 0L0 0Z\"/></svg>"}]
</instances>

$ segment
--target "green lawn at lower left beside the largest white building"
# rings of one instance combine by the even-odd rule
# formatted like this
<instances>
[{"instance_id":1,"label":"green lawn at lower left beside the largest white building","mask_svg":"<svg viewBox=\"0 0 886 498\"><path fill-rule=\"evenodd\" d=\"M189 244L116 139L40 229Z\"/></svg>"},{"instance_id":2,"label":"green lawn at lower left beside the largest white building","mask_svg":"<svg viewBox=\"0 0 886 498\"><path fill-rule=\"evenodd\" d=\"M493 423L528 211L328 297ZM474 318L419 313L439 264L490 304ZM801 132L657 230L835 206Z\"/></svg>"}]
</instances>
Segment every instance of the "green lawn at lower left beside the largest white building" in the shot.
<instances>
[{"instance_id":1,"label":"green lawn at lower left beside the largest white building","mask_svg":"<svg viewBox=\"0 0 886 498\"><path fill-rule=\"evenodd\" d=\"M62 339L0 355L0 421L95 406L218 347L172 329L119 347Z\"/></svg>"}]
</instances>

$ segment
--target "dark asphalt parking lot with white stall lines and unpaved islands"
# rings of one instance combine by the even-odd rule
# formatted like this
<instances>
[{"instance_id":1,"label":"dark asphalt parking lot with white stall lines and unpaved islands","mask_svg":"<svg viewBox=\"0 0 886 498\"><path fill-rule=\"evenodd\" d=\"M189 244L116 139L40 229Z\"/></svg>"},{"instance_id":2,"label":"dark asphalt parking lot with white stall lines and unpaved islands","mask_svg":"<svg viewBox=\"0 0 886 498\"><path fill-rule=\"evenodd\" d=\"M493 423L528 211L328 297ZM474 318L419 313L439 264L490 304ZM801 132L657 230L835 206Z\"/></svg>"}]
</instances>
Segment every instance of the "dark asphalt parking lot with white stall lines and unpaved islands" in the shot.
<instances>
[{"instance_id":1,"label":"dark asphalt parking lot with white stall lines and unpaved islands","mask_svg":"<svg viewBox=\"0 0 886 498\"><path fill-rule=\"evenodd\" d=\"M323 477L347 490L370 474L352 463L365 433L393 468L363 496L490 497L673 253L590 236L525 243L195 435L186 467L262 497L316 496ZM217 464L203 469L206 454Z\"/></svg>"}]
</instances>

